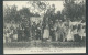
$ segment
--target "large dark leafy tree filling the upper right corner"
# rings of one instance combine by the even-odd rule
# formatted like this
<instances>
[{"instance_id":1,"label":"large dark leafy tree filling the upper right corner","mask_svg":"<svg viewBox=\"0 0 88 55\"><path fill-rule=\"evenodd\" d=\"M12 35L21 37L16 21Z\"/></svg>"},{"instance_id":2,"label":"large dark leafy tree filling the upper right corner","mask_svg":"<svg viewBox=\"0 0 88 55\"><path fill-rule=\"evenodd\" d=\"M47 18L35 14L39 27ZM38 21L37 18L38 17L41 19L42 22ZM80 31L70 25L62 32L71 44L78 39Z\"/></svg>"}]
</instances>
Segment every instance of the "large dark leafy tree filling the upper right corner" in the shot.
<instances>
[{"instance_id":1,"label":"large dark leafy tree filling the upper right corner","mask_svg":"<svg viewBox=\"0 0 88 55\"><path fill-rule=\"evenodd\" d=\"M76 3L76 0L65 0L63 15L70 21L84 20L86 14L86 8L84 2Z\"/></svg>"}]
</instances>

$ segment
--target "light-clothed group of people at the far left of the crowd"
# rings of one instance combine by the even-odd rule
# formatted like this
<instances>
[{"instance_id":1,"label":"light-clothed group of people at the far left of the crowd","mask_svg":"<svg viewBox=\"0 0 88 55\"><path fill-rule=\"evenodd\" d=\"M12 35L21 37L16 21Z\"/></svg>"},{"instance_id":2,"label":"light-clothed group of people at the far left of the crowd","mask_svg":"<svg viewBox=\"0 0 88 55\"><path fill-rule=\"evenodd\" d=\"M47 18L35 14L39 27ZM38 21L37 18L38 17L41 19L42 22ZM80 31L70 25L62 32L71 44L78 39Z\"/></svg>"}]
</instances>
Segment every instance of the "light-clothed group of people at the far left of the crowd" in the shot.
<instances>
[{"instance_id":1,"label":"light-clothed group of people at the far left of the crowd","mask_svg":"<svg viewBox=\"0 0 88 55\"><path fill-rule=\"evenodd\" d=\"M3 29L3 42L12 42L16 40L18 31L13 26Z\"/></svg>"}]
</instances>

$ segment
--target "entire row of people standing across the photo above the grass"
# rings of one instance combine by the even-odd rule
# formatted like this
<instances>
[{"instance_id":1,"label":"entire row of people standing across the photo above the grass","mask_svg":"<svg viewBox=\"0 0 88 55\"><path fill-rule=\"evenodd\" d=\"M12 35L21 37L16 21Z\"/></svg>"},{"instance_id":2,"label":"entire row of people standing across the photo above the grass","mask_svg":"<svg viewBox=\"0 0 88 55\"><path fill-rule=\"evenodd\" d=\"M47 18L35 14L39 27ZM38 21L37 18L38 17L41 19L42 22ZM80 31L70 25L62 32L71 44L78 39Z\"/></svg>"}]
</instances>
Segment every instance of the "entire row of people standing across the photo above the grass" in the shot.
<instances>
[{"instance_id":1,"label":"entire row of people standing across the photo above the grass","mask_svg":"<svg viewBox=\"0 0 88 55\"><path fill-rule=\"evenodd\" d=\"M80 42L86 41L86 25L81 22L72 22L56 20L53 28L48 24L43 29L42 25L33 24L29 28L16 28L10 26L3 29L3 41L4 42L19 42L19 41L58 41L58 42Z\"/></svg>"}]
</instances>

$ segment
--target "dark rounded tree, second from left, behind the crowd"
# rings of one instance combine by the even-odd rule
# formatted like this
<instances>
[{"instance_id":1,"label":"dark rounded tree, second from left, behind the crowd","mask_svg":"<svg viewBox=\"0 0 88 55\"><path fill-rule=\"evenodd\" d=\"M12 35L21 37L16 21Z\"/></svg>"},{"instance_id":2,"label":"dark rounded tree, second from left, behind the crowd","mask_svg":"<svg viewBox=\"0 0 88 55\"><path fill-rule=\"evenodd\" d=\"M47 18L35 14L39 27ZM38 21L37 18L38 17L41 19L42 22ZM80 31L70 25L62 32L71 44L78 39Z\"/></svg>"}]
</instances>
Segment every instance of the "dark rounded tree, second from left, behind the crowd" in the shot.
<instances>
[{"instance_id":1,"label":"dark rounded tree, second from left, behind the crowd","mask_svg":"<svg viewBox=\"0 0 88 55\"><path fill-rule=\"evenodd\" d=\"M33 14L30 12L29 8L22 8L21 10L19 10L19 14L21 16L21 23L25 25L28 25L30 23L30 16L32 16Z\"/></svg>"}]
</instances>

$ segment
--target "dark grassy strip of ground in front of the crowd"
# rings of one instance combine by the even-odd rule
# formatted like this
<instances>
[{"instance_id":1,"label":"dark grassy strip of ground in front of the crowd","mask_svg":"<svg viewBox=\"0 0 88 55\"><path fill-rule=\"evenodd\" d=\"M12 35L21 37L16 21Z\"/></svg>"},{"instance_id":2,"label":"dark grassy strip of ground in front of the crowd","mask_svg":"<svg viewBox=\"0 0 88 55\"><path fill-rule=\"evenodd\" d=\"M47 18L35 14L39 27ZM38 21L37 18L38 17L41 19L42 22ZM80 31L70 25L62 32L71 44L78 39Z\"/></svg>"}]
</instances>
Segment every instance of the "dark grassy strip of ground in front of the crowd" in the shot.
<instances>
[{"instance_id":1,"label":"dark grassy strip of ground in front of the crowd","mask_svg":"<svg viewBox=\"0 0 88 55\"><path fill-rule=\"evenodd\" d=\"M3 43L4 48L32 48L32 47L59 47L59 48L70 48L70 47L85 47L85 42L12 42Z\"/></svg>"}]
</instances>

